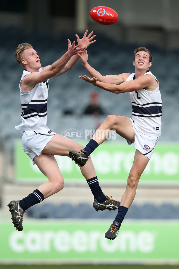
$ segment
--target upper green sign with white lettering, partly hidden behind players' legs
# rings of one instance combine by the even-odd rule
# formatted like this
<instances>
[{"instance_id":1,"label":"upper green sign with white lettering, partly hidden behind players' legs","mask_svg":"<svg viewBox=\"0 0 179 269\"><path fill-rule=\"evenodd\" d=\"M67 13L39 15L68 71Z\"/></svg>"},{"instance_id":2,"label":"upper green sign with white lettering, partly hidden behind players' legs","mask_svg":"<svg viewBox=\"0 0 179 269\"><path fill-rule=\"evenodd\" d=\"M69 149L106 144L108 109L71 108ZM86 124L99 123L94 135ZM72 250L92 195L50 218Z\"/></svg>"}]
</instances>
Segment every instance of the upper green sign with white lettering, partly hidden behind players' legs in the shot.
<instances>
[{"instance_id":1,"label":"upper green sign with white lettering, partly hidden behind players' legs","mask_svg":"<svg viewBox=\"0 0 179 269\"><path fill-rule=\"evenodd\" d=\"M78 142L86 145L87 142ZM106 140L91 154L100 182L126 184L135 154L133 145ZM80 168L69 157L55 156L65 183L84 183ZM15 144L15 177L17 182L44 182L47 178L24 153L21 141ZM179 185L179 143L159 143L144 170L140 184Z\"/></svg>"}]
</instances>

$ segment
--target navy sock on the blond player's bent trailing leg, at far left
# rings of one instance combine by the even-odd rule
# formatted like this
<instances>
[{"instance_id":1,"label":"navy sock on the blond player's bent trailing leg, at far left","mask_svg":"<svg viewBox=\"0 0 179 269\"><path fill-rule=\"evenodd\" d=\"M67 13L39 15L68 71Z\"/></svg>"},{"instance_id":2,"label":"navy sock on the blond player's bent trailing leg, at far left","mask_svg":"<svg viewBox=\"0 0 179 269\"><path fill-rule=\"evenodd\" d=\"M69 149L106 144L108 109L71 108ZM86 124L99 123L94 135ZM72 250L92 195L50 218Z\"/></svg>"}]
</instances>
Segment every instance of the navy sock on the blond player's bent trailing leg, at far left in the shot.
<instances>
[{"instance_id":1,"label":"navy sock on the blond player's bent trailing leg, at far left","mask_svg":"<svg viewBox=\"0 0 179 269\"><path fill-rule=\"evenodd\" d=\"M38 204L42 201L44 201L44 195L38 189L35 189L35 191L31 192L27 197L20 200L19 205L22 209L27 210L34 204Z\"/></svg>"}]
</instances>

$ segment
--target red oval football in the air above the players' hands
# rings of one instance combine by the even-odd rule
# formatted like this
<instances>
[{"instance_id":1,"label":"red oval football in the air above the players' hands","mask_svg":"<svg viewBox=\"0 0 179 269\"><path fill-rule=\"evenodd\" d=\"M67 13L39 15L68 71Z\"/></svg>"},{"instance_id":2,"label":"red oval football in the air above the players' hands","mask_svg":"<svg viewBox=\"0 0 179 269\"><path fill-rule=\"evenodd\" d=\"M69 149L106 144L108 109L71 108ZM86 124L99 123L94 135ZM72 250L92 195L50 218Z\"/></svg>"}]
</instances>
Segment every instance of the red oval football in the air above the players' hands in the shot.
<instances>
[{"instance_id":1,"label":"red oval football in the air above the players' hands","mask_svg":"<svg viewBox=\"0 0 179 269\"><path fill-rule=\"evenodd\" d=\"M91 18L101 24L113 24L118 20L118 14L110 7L94 7L90 11Z\"/></svg>"}]
</instances>

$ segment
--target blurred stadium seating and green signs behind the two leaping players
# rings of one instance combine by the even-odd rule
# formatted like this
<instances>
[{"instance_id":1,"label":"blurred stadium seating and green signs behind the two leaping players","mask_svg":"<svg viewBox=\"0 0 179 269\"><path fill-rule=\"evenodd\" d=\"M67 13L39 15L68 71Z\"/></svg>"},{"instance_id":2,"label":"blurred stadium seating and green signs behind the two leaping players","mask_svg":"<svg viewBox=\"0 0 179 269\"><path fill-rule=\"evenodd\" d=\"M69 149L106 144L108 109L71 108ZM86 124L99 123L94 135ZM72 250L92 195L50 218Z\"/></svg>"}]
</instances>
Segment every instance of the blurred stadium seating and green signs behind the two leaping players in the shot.
<instances>
[{"instance_id":1,"label":"blurred stadium seating and green signs behind the two leaping players","mask_svg":"<svg viewBox=\"0 0 179 269\"><path fill-rule=\"evenodd\" d=\"M0 1L0 264L179 264L179 1L177 0L29 0ZM119 15L114 25L90 18L95 6ZM22 233L14 230L7 204L24 198L46 180L21 150L19 80L15 62L19 43L31 43L42 66L53 63L86 29L96 42L88 48L89 63L101 74L133 72L133 51L147 47L152 73L160 82L163 101L161 138L139 182L135 200L114 242L105 231L115 212L96 212L92 194L79 168L58 157L64 189L24 215ZM86 74L79 61L66 74L50 80L47 125L62 134L67 129L93 130L107 114L131 117L128 94L115 95L78 78ZM98 91L105 114L85 116L92 91ZM71 110L71 114L66 111ZM74 138L74 137L72 137ZM108 140L92 155L104 193L120 200L134 149L120 137ZM101 161L104 156L105 161ZM117 161L116 160L117 156ZM71 212L69 214L69 212ZM117 268L117 267L116 267Z\"/></svg>"}]
</instances>

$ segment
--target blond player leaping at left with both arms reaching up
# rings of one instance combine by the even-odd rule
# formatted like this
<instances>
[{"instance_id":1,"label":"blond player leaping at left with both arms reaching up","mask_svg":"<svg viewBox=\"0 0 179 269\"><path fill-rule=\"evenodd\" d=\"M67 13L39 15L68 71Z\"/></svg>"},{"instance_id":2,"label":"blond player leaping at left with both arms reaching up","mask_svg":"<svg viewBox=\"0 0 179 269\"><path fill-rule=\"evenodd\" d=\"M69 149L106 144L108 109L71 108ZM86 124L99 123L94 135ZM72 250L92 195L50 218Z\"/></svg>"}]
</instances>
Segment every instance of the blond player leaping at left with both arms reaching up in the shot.
<instances>
[{"instance_id":1,"label":"blond player leaping at left with both arms reaching up","mask_svg":"<svg viewBox=\"0 0 179 269\"><path fill-rule=\"evenodd\" d=\"M25 210L64 187L64 178L54 155L68 156L70 149L78 151L82 147L75 141L58 135L48 128L47 97L48 80L72 69L79 59L79 53L84 52L90 44L95 42L93 40L95 35L92 36L93 32L88 36L87 33L88 30L84 33L82 39L76 35L78 42L76 46L75 41L71 45L71 41L68 39L67 52L52 65L46 67L41 67L40 58L31 44L21 43L16 48L15 59L22 65L24 71L19 84L22 123L15 128L23 131L21 142L24 152L49 180L41 184L27 197L10 201L8 204L12 215L11 219L18 231L23 230L22 218ZM118 209L120 202L110 199L102 192L91 159L84 168L81 168L81 172L94 195L93 207L96 210Z\"/></svg>"}]
</instances>

